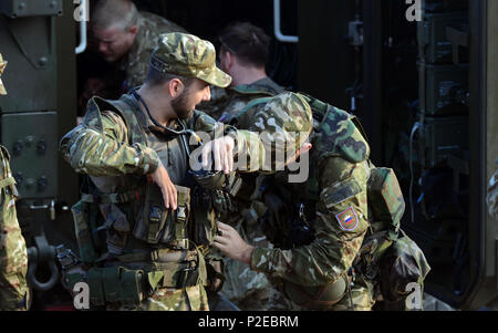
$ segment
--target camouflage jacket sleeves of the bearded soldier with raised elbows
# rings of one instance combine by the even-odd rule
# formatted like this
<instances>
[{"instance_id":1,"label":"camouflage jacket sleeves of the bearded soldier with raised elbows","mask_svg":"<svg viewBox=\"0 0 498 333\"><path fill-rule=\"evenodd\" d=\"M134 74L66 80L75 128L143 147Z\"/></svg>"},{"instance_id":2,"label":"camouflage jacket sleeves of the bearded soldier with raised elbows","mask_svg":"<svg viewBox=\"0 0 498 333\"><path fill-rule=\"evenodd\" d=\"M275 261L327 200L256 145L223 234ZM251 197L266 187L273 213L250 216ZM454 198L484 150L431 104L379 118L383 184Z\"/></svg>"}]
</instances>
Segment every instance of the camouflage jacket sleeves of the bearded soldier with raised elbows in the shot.
<instances>
[{"instance_id":1,"label":"camouflage jacket sleeves of the bearded soldier with raised elbows","mask_svg":"<svg viewBox=\"0 0 498 333\"><path fill-rule=\"evenodd\" d=\"M128 95L123 95L122 98ZM142 144L127 144L128 127L124 119L112 111L103 112L103 117L92 116L92 105L98 97L92 98L83 124L68 133L61 141L61 152L71 166L81 174L93 177L149 175L158 166L157 153ZM100 98L98 98L100 100ZM135 102L136 103L136 102ZM147 116L142 113L142 127L149 125ZM214 127L222 127L211 117L196 111L194 117L186 124L194 132L209 132ZM238 154L246 154L248 169L258 170L263 164L264 147L258 136L248 131L236 131ZM212 137L211 137L212 138ZM167 141L167 139L166 139Z\"/></svg>"}]
</instances>

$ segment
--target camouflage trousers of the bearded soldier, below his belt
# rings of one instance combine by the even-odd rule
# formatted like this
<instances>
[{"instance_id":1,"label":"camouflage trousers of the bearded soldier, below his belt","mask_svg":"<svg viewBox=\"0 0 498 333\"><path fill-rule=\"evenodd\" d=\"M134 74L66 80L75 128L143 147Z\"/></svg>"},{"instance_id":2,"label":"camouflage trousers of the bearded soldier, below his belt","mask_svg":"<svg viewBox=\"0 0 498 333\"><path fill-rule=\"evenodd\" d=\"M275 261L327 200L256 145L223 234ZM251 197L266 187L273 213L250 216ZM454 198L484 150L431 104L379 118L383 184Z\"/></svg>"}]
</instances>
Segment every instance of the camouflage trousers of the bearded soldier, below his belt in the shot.
<instances>
[{"instance_id":1,"label":"camouflage trousers of the bearded soldier, below his belt","mask_svg":"<svg viewBox=\"0 0 498 333\"><path fill-rule=\"evenodd\" d=\"M138 306L107 306L107 311L209 311L208 298L203 285L185 289L160 288Z\"/></svg>"}]
</instances>

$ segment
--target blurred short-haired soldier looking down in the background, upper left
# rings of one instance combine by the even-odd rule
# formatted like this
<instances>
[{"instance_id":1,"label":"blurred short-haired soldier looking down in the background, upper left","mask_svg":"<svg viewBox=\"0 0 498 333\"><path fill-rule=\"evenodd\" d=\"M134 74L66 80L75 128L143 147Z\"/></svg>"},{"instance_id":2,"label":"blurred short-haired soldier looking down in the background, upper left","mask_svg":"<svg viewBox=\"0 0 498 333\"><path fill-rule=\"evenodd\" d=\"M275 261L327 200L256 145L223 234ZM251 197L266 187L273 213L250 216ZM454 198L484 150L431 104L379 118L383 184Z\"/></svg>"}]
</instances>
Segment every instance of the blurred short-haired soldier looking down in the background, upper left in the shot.
<instances>
[{"instance_id":1,"label":"blurred short-haired soldier looking down in the background, upper left","mask_svg":"<svg viewBox=\"0 0 498 333\"><path fill-rule=\"evenodd\" d=\"M186 32L178 24L146 11L138 11L129 0L100 0L91 12L90 49L110 63L113 71L103 79L92 77L85 84L81 104L98 94L114 98L114 91L127 92L144 83L148 61L163 33ZM115 82L118 71L124 82ZM120 86L115 87L114 85Z\"/></svg>"}]
</instances>

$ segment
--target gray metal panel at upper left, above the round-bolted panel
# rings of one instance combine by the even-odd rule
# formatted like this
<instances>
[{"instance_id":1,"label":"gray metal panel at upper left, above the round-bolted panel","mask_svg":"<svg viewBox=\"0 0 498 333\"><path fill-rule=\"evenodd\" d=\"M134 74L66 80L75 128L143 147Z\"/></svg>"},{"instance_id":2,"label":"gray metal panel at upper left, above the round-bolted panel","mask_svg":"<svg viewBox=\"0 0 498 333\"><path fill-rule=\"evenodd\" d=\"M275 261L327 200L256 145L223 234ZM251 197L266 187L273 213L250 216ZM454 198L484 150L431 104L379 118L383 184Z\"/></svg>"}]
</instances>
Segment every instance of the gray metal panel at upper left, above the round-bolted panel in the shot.
<instances>
[{"instance_id":1,"label":"gray metal panel at upper left, above the round-bolted panel","mask_svg":"<svg viewBox=\"0 0 498 333\"><path fill-rule=\"evenodd\" d=\"M1 52L8 61L2 81L9 93L0 98L2 113L56 108L53 20L44 17L0 20Z\"/></svg>"}]
</instances>

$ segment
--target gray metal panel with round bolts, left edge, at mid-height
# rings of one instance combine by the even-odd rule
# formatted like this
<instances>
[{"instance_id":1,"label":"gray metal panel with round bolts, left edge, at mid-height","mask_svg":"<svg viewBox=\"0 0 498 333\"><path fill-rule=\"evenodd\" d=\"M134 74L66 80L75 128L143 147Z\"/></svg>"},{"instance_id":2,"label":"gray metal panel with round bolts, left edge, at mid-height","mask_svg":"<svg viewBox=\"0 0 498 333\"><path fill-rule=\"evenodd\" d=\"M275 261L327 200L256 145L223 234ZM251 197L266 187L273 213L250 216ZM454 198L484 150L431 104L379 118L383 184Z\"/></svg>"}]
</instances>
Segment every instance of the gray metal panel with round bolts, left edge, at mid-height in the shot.
<instances>
[{"instance_id":1,"label":"gray metal panel with round bolts, left edge, at mid-height","mask_svg":"<svg viewBox=\"0 0 498 333\"><path fill-rule=\"evenodd\" d=\"M1 141L12 157L12 174L22 199L56 197L56 119L55 112L4 114L1 117Z\"/></svg>"}]
</instances>

